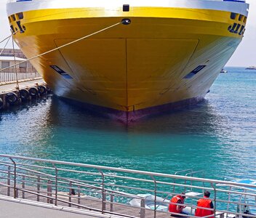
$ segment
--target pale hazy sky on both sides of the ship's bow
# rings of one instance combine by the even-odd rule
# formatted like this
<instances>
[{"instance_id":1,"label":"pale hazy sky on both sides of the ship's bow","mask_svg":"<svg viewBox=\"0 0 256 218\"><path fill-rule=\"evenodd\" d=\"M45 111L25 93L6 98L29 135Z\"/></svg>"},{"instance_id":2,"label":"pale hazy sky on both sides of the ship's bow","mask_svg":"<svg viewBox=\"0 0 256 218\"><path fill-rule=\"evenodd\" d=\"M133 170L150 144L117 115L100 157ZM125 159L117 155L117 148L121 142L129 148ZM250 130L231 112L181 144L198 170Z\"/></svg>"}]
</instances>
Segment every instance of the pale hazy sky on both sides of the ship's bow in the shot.
<instances>
[{"instance_id":1,"label":"pale hazy sky on both sides of the ship's bow","mask_svg":"<svg viewBox=\"0 0 256 218\"><path fill-rule=\"evenodd\" d=\"M6 2L7 0L0 0L0 41L10 35ZM226 66L246 67L256 65L256 0L247 0L247 3L250 4L250 8L244 39ZM0 48L4 45L5 42L1 43ZM11 41L7 48L12 48Z\"/></svg>"}]
</instances>

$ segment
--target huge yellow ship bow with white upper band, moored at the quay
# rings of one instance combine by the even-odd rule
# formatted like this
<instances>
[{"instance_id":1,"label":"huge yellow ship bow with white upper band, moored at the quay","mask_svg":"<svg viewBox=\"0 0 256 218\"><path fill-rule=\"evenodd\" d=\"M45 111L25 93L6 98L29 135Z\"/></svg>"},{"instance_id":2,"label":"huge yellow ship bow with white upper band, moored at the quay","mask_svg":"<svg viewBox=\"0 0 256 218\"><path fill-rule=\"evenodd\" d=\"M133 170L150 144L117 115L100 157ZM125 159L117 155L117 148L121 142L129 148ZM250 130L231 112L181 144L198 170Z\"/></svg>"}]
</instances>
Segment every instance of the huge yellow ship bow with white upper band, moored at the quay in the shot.
<instances>
[{"instance_id":1,"label":"huge yellow ship bow with white upper band, moored at the quay","mask_svg":"<svg viewBox=\"0 0 256 218\"><path fill-rule=\"evenodd\" d=\"M239 46L243 0L9 0L17 45L53 92L125 123L204 100Z\"/></svg>"}]
</instances>

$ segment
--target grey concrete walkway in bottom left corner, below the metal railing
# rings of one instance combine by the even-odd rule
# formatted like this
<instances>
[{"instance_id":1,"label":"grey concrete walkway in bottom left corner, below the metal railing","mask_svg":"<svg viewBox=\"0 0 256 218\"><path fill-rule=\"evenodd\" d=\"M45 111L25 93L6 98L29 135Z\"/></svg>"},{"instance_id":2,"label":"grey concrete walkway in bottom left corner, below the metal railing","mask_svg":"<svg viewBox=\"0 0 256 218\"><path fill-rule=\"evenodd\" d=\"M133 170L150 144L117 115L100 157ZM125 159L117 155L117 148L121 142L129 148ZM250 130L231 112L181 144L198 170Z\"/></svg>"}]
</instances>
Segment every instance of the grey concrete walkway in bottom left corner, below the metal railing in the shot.
<instances>
[{"instance_id":1,"label":"grey concrete walkway in bottom left corner, below the metal railing","mask_svg":"<svg viewBox=\"0 0 256 218\"><path fill-rule=\"evenodd\" d=\"M0 196L0 217L4 218L120 218L95 211L71 209L23 199ZM124 218L124 217L123 217Z\"/></svg>"}]
</instances>

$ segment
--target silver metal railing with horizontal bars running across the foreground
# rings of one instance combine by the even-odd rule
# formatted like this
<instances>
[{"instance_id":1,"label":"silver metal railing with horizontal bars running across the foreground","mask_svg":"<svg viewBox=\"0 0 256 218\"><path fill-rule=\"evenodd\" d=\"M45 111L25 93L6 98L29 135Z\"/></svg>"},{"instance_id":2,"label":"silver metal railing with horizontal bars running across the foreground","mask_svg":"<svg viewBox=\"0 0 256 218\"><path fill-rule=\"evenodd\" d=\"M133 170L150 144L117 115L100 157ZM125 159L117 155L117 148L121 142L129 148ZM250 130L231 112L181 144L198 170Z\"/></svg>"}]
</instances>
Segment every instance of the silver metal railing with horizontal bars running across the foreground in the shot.
<instances>
[{"instance_id":1,"label":"silver metal railing with horizontal bars running across the foreground","mask_svg":"<svg viewBox=\"0 0 256 218\"><path fill-rule=\"evenodd\" d=\"M170 191L173 187L175 192ZM191 190L201 195L193 195ZM210 199L215 207L208 210L213 211L215 217L228 217L228 214L233 217L256 217L244 213L248 207L256 211L256 185L0 155L1 195L72 209L124 217L161 218L170 215L168 206L172 195L185 192L185 203L177 205L187 206L192 212L199 208L196 201L202 197L204 190L211 193ZM163 201L166 195L170 197ZM195 217L193 213L180 216Z\"/></svg>"}]
</instances>

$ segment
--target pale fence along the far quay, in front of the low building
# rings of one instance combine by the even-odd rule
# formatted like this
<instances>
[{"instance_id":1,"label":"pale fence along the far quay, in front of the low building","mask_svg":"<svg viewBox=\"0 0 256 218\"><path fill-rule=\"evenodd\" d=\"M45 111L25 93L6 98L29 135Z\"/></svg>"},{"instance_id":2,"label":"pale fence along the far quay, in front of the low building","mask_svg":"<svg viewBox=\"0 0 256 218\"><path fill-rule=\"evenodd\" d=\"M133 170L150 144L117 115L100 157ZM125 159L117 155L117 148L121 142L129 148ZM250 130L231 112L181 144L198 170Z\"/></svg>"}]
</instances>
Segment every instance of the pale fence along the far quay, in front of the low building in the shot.
<instances>
[{"instance_id":1,"label":"pale fence along the far quay, in front of the low building","mask_svg":"<svg viewBox=\"0 0 256 218\"><path fill-rule=\"evenodd\" d=\"M41 78L41 75L33 68L10 68L0 72L0 83L11 83L39 78Z\"/></svg>"}]
</instances>

